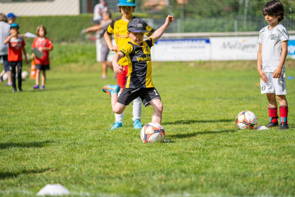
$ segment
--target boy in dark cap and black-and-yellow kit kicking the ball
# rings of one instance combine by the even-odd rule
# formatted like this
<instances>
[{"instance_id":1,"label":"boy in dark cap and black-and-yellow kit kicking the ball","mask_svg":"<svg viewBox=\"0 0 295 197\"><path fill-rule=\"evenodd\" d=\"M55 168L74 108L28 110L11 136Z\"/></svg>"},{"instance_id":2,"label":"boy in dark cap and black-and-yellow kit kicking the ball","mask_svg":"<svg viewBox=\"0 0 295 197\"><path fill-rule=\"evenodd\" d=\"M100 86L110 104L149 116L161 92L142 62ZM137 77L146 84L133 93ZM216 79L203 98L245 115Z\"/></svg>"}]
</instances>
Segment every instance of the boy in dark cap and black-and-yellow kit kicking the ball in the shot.
<instances>
[{"instance_id":1,"label":"boy in dark cap and black-and-yellow kit kicking the ball","mask_svg":"<svg viewBox=\"0 0 295 197\"><path fill-rule=\"evenodd\" d=\"M102 90L111 96L111 105L114 113L121 114L126 106L135 98L140 97L145 107L152 105L154 108L152 122L161 124L163 105L161 97L152 82L152 65L150 48L163 35L173 16L168 15L164 25L156 30L148 40L143 40L146 23L140 18L133 18L127 24L127 34L130 41L127 42L113 58L115 73L122 72L122 66L118 61L126 57L128 61L128 74L126 83L120 97L119 85L105 85Z\"/></svg>"}]
</instances>

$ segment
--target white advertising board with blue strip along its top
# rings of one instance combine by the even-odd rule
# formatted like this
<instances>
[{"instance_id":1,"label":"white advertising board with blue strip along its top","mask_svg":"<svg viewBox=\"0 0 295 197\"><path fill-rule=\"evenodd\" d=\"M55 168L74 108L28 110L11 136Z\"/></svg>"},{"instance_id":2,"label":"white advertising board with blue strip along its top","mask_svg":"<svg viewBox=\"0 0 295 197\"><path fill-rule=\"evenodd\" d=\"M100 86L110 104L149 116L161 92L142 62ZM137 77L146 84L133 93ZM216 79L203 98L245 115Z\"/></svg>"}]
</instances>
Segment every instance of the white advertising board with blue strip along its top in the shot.
<instances>
[{"instance_id":1,"label":"white advertising board with blue strip along its top","mask_svg":"<svg viewBox=\"0 0 295 197\"><path fill-rule=\"evenodd\" d=\"M160 39L151 48L153 61L196 61L210 59L209 38Z\"/></svg>"}]
</instances>

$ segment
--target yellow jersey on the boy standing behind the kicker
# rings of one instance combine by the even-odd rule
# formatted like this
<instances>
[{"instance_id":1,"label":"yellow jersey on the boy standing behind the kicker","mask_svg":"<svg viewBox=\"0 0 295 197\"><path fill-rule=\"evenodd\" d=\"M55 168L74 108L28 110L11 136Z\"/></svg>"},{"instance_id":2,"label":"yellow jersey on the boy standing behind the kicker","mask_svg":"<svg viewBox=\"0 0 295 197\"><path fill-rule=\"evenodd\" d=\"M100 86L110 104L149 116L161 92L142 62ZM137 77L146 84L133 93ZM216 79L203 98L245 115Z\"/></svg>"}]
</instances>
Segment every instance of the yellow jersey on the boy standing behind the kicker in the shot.
<instances>
[{"instance_id":1,"label":"yellow jersey on the boy standing behind the kicker","mask_svg":"<svg viewBox=\"0 0 295 197\"><path fill-rule=\"evenodd\" d=\"M137 17L133 17L137 18ZM126 44L130 38L127 34L127 24L129 21L124 21L122 19L122 16L119 16L112 20L111 24L109 25L108 29L106 30L106 33L108 35L114 34L116 45L119 45L119 50ZM146 32L145 35L148 37L152 35L152 33L155 31L152 27L149 25L146 26L146 30L150 32ZM127 65L127 59L121 58L118 62L122 66Z\"/></svg>"}]
</instances>

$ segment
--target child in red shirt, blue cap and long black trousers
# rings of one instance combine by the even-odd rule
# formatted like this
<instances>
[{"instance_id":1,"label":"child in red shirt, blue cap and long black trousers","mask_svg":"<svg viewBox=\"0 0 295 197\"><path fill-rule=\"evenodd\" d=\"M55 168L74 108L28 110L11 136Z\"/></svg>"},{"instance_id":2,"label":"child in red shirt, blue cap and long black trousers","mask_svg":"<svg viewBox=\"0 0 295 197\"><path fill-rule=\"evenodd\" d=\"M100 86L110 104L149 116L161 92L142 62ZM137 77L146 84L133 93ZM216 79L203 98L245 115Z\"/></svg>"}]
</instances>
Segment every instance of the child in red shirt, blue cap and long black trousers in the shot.
<instances>
[{"instance_id":1,"label":"child in red shirt, blue cap and long black trousers","mask_svg":"<svg viewBox=\"0 0 295 197\"><path fill-rule=\"evenodd\" d=\"M11 78L12 78L12 88L13 92L16 92L16 84L15 84L15 75L16 75L16 68L17 67L17 81L18 81L18 89L19 92L22 92L22 51L24 53L24 57L26 58L26 63L28 64L29 61L27 59L27 52L24 48L26 43L22 36L19 36L19 25L17 23L12 23L10 25L11 33L7 38L4 40L4 44L8 44L8 65L9 70L11 71Z\"/></svg>"}]
</instances>

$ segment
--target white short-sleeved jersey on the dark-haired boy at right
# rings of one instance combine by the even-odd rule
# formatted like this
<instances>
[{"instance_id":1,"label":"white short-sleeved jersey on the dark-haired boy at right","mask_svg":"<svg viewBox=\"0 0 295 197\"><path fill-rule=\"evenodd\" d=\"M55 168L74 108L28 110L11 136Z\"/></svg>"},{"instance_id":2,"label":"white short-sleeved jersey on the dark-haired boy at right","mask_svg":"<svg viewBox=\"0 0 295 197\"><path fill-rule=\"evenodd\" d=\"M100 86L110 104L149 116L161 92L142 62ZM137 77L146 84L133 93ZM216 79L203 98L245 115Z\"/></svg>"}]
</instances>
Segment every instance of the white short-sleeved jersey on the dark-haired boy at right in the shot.
<instances>
[{"instance_id":1,"label":"white short-sleeved jersey on the dark-haired boy at right","mask_svg":"<svg viewBox=\"0 0 295 197\"><path fill-rule=\"evenodd\" d=\"M268 29L268 26L260 30L257 43L262 43L262 70L273 72L280 63L281 42L289 40L289 33L281 23L271 30ZM285 65L282 71L285 71Z\"/></svg>"}]
</instances>

